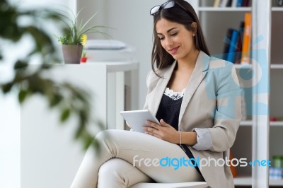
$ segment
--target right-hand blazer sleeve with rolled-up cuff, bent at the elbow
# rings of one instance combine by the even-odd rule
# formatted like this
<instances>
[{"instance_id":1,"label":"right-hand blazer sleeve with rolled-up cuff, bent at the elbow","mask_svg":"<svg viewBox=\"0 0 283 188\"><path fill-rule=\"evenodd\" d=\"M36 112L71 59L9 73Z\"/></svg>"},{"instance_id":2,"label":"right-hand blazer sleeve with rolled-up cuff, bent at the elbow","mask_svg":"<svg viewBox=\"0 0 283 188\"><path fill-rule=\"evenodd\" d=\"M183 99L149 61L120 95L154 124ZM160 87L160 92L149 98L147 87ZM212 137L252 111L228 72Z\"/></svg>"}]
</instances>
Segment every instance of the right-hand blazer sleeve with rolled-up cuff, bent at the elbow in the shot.
<instances>
[{"instance_id":1,"label":"right-hand blazer sleeve with rolled-up cuff, bent at the elbow","mask_svg":"<svg viewBox=\"0 0 283 188\"><path fill-rule=\"evenodd\" d=\"M226 62L216 83L216 110L210 151L227 151L236 139L241 122L241 87L233 64Z\"/></svg>"}]
</instances>

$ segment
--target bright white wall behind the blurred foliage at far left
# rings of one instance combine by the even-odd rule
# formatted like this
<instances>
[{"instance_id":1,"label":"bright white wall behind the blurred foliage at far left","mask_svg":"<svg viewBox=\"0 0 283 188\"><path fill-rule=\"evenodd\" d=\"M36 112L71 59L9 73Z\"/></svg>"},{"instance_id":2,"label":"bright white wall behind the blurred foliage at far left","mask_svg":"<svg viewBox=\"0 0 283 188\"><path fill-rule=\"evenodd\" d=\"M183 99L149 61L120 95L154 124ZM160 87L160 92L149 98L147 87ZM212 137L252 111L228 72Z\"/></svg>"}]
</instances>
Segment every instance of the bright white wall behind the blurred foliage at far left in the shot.
<instances>
[{"instance_id":1,"label":"bright white wall behind the blurred foliage at far left","mask_svg":"<svg viewBox=\"0 0 283 188\"><path fill-rule=\"evenodd\" d=\"M75 10L75 0L10 0L23 8L69 6ZM24 57L30 49L30 39L25 37L21 44L6 44L1 40L4 59L0 62L0 82L13 77L13 59ZM5 45L3 45L5 44ZM13 52L13 53L11 53ZM4 95L0 91L0 187L21 187L21 110L16 90Z\"/></svg>"}]
</instances>

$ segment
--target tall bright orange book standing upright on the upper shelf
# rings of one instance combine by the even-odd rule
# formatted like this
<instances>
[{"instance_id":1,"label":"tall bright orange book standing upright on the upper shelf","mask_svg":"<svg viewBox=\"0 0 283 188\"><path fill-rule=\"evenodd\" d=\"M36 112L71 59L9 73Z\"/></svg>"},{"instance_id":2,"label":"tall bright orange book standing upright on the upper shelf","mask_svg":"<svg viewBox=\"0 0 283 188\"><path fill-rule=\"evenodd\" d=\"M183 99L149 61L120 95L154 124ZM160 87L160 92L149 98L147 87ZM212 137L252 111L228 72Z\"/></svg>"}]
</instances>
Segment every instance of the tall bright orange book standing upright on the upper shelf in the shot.
<instances>
[{"instance_id":1,"label":"tall bright orange book standing upright on the upper shelf","mask_svg":"<svg viewBox=\"0 0 283 188\"><path fill-rule=\"evenodd\" d=\"M246 13L245 14L245 28L243 31L243 47L242 47L241 64L248 64L250 61L251 27L252 27L252 14Z\"/></svg>"}]
</instances>

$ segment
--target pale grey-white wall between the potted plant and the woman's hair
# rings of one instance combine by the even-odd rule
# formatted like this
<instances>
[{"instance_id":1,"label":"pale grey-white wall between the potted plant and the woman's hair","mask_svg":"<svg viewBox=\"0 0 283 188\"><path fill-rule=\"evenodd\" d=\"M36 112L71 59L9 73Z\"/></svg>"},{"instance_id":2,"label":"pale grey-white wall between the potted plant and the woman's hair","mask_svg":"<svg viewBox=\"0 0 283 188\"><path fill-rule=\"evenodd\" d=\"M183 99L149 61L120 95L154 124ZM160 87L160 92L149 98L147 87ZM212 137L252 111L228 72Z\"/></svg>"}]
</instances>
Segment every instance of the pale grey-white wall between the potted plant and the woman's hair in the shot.
<instances>
[{"instance_id":1,"label":"pale grey-white wall between the potted plant and the woman's hair","mask_svg":"<svg viewBox=\"0 0 283 188\"><path fill-rule=\"evenodd\" d=\"M121 40L136 48L135 59L139 61L139 109L144 106L146 96L146 76L151 69L153 18L149 11L164 0L85 0L78 1L78 10L84 7L82 17L88 18L99 11L93 22L108 25L108 33L115 40ZM88 38L103 38L89 35Z\"/></svg>"}]
</instances>

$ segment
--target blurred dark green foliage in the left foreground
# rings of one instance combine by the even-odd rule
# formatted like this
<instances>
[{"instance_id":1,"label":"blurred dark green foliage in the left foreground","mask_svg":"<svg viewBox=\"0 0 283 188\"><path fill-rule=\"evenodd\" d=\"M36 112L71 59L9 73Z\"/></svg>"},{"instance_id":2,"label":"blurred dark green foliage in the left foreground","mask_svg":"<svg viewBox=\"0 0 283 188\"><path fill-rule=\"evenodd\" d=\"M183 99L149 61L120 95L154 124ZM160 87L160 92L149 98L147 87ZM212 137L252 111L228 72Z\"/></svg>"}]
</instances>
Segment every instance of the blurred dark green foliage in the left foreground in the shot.
<instances>
[{"instance_id":1,"label":"blurred dark green foliage in the left foreground","mask_svg":"<svg viewBox=\"0 0 283 188\"><path fill-rule=\"evenodd\" d=\"M28 18L32 21L29 22L30 24L23 25L20 23L21 18ZM45 31L44 23L40 20L42 18L49 18L54 24L59 24L59 20L62 20L61 15L54 11L39 8L22 10L10 4L8 0L0 1L0 64L5 61L4 42L16 45L26 36L29 36L33 42L33 48L25 57L8 62L8 64L13 64L14 76L11 81L0 83L0 91L6 94L13 88L17 88L20 103L32 95L42 95L50 108L59 110L59 121L61 122L66 122L71 115L76 116L79 122L74 138L81 141L83 148L86 149L93 141L93 134L88 131L88 124L94 121L100 128L103 127L103 124L98 119L91 117L91 102L88 101L90 96L86 90L70 83L57 83L42 76L52 69L52 64L61 63L53 44L52 37L54 36ZM68 30L64 28L64 25L61 25L60 29ZM38 62L40 67L36 71L28 71L33 57L40 57L40 62ZM98 147L98 143L94 141L93 146Z\"/></svg>"}]
</instances>

